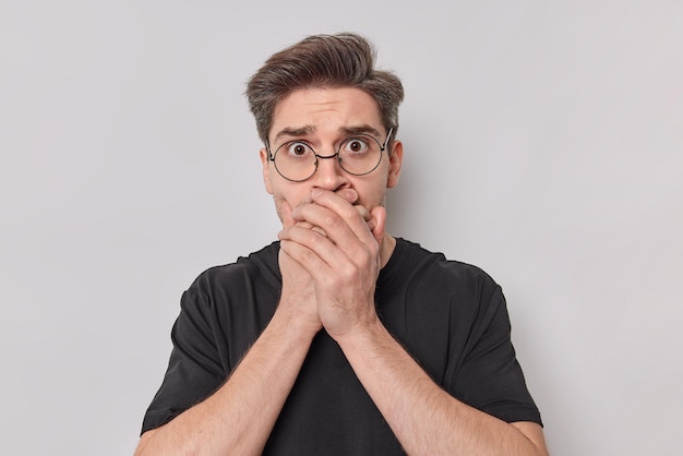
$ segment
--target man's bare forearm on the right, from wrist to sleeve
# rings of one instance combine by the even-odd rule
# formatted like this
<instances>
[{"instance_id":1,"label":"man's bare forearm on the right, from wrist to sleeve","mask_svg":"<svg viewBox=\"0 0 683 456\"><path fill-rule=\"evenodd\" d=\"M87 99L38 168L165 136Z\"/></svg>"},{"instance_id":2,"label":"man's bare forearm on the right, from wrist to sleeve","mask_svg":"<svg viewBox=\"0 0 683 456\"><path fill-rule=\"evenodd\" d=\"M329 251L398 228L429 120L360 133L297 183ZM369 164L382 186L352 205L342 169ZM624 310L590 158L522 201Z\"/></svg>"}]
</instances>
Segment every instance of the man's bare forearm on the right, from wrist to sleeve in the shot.
<instances>
[{"instance_id":1,"label":"man's bare forearm on the right, from wrist to sleeve","mask_svg":"<svg viewBox=\"0 0 683 456\"><path fill-rule=\"evenodd\" d=\"M338 340L356 375L410 455L547 455L531 432L469 407L436 385L378 321ZM520 428L525 428L523 423ZM526 430L526 429L525 429Z\"/></svg>"}]
</instances>

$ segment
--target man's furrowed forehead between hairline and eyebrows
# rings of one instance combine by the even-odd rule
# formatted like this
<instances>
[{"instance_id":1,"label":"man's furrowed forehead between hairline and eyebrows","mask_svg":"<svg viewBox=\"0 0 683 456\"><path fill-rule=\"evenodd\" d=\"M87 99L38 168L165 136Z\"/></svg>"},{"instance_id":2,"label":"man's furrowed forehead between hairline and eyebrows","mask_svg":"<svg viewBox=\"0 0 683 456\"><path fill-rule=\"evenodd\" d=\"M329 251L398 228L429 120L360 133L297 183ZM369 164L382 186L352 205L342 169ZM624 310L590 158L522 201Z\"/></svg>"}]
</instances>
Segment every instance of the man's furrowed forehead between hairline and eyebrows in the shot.
<instances>
[{"instance_id":1,"label":"man's furrowed forehead between hairline and eyebrows","mask_svg":"<svg viewBox=\"0 0 683 456\"><path fill-rule=\"evenodd\" d=\"M356 125L382 130L380 108L370 94L355 87L307 88L292 92L276 105L271 137L286 129L323 132Z\"/></svg>"}]
</instances>

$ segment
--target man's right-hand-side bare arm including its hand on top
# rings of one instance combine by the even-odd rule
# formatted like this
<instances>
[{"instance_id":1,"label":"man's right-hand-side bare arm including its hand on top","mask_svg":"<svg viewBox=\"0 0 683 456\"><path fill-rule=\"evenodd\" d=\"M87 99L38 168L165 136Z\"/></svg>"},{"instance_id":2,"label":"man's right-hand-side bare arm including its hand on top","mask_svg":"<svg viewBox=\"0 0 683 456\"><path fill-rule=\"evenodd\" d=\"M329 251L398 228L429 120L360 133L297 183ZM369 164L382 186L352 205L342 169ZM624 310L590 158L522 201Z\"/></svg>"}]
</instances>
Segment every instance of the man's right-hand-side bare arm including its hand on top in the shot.
<instances>
[{"instance_id":1,"label":"man's right-hand-side bare arm including its hand on top","mask_svg":"<svg viewBox=\"0 0 683 456\"><path fill-rule=\"evenodd\" d=\"M409 454L546 455L540 425L505 423L441 389L388 334L374 311L384 209L372 232L348 204L313 193L295 218L321 227L286 229L281 248L313 277L321 321Z\"/></svg>"}]
</instances>

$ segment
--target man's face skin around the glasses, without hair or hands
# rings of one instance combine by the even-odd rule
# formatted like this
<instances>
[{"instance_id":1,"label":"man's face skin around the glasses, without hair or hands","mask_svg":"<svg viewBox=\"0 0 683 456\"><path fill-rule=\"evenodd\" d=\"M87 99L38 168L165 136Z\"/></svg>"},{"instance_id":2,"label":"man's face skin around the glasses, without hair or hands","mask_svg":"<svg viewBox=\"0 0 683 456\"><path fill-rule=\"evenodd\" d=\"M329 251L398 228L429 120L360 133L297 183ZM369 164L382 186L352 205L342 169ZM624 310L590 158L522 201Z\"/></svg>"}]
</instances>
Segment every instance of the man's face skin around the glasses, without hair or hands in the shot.
<instances>
[{"instance_id":1,"label":"man's face skin around the glasses, without hair or hands","mask_svg":"<svg viewBox=\"0 0 683 456\"><path fill-rule=\"evenodd\" d=\"M268 142L273 153L285 142L300 140L310 144L317 155L329 156L337 152L349 131L359 129L367 130L380 143L387 134L376 101L366 92L351 87L301 89L292 92L275 107ZM268 160L267 151L262 148L263 180L280 220L283 202L295 208L309 202L311 190L316 187L332 191L352 189L358 199L350 203L368 211L384 205L386 189L398 182L403 158L400 142L394 142L391 148L391 157L387 147L378 168L369 175L349 175L336 158L323 158L319 159L313 177L303 182L283 178Z\"/></svg>"}]
</instances>

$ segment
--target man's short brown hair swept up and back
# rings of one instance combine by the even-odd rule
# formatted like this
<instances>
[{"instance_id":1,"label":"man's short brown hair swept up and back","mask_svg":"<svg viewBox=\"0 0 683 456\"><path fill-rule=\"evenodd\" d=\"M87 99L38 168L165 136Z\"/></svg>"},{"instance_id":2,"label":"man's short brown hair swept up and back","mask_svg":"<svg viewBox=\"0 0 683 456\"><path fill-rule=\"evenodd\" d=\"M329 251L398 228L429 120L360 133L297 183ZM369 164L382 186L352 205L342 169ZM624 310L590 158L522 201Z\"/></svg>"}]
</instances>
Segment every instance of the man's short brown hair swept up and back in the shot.
<instances>
[{"instance_id":1,"label":"man's short brown hair swept up and back","mask_svg":"<svg viewBox=\"0 0 683 456\"><path fill-rule=\"evenodd\" d=\"M354 33L312 35L268 58L247 84L247 99L261 140L267 144L276 105L298 89L356 87L378 103L386 131L398 130L403 84L391 71L376 70L371 43Z\"/></svg>"}]
</instances>

